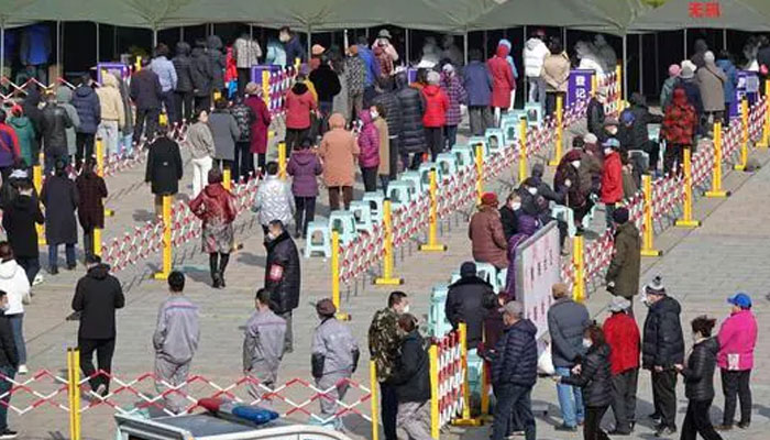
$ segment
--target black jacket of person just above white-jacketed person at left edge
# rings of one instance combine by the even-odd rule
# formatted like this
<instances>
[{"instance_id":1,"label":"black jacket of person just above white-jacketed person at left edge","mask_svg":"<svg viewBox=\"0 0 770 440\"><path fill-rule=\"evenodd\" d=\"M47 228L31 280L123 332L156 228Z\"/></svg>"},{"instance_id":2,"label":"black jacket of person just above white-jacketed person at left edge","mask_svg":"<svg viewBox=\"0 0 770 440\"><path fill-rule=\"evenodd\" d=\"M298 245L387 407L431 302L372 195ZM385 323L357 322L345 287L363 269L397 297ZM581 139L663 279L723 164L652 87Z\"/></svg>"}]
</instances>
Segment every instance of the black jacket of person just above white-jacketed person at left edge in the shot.
<instances>
[{"instance_id":1,"label":"black jacket of person just above white-jacketed person at left edge","mask_svg":"<svg viewBox=\"0 0 770 440\"><path fill-rule=\"evenodd\" d=\"M37 200L30 196L20 195L10 207L3 209L2 229L13 255L19 258L36 258L40 255L35 223L43 224L44 221Z\"/></svg>"}]
</instances>

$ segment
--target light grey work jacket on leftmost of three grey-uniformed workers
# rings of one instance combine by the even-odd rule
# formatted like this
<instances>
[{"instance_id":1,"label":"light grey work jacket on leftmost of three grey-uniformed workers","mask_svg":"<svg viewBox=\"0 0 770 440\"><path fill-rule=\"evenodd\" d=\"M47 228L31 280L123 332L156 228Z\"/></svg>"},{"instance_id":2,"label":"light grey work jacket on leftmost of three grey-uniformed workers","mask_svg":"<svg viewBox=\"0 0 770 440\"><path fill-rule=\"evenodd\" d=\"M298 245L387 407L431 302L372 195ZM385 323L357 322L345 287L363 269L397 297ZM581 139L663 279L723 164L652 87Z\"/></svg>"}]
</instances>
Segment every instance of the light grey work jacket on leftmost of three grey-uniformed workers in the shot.
<instances>
[{"instance_id":1,"label":"light grey work jacket on leftmost of three grey-uniformed workers","mask_svg":"<svg viewBox=\"0 0 770 440\"><path fill-rule=\"evenodd\" d=\"M155 355L180 365L193 360L200 340L198 306L184 296L173 296L161 305L153 334Z\"/></svg>"}]
</instances>

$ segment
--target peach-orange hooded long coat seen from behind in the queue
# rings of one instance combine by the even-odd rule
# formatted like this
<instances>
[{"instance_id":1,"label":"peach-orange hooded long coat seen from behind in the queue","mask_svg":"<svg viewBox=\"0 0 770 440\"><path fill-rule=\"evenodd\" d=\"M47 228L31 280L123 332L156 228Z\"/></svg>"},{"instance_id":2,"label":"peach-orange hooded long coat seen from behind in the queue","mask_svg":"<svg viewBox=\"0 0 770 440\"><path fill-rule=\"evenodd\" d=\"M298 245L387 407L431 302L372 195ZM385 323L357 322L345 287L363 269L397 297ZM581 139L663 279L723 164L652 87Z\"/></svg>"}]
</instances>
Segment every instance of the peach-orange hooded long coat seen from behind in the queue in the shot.
<instances>
[{"instance_id":1,"label":"peach-orange hooded long coat seen from behind in the queue","mask_svg":"<svg viewBox=\"0 0 770 440\"><path fill-rule=\"evenodd\" d=\"M323 161L323 183L327 187L353 186L355 158L361 154L355 138L344 129L344 118L329 118L329 131L323 134L318 155Z\"/></svg>"}]
</instances>

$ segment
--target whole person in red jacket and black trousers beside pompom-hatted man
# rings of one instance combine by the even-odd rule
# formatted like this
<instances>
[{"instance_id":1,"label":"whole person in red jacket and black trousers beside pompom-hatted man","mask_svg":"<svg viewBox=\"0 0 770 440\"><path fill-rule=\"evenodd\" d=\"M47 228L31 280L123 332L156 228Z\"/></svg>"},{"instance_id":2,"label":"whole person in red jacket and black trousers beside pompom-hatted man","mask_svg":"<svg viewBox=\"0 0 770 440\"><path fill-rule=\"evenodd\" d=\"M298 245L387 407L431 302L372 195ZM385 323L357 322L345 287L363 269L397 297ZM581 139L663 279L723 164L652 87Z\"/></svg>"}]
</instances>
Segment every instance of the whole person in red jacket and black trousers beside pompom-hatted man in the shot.
<instances>
[{"instance_id":1,"label":"whole person in red jacket and black trousers beside pompom-hatted man","mask_svg":"<svg viewBox=\"0 0 770 440\"><path fill-rule=\"evenodd\" d=\"M604 321L604 337L609 345L613 375L613 413L615 430L610 435L628 436L635 424L636 387L639 378L639 328L626 310L631 302L616 296L609 304L612 316Z\"/></svg>"}]
</instances>

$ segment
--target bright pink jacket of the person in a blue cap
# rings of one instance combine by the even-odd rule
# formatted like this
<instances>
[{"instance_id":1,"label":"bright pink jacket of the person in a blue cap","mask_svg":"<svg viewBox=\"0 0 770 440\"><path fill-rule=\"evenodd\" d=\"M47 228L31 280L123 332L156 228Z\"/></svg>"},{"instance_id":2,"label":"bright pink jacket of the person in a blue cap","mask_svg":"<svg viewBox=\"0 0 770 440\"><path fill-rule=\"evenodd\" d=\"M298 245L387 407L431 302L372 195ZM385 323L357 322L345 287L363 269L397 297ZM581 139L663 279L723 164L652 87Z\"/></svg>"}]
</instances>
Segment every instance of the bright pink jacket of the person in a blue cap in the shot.
<instances>
[{"instance_id":1,"label":"bright pink jacket of the person in a blue cap","mask_svg":"<svg viewBox=\"0 0 770 440\"><path fill-rule=\"evenodd\" d=\"M725 319L719 328L719 353L716 363L723 370L751 370L757 344L757 320L751 310L740 310ZM737 356L730 362L729 358Z\"/></svg>"}]
</instances>

